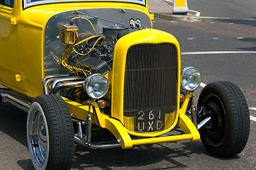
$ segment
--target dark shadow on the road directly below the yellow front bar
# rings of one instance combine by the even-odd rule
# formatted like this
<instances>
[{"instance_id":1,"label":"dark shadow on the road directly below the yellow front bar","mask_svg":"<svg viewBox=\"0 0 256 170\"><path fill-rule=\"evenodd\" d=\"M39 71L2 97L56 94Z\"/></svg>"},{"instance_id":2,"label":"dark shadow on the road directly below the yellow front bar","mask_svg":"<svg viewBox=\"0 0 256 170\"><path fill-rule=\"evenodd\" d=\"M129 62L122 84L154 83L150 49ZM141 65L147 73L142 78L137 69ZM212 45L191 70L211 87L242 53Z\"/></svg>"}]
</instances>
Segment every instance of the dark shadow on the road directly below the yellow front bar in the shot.
<instances>
[{"instance_id":1,"label":"dark shadow on the road directly below the yellow front bar","mask_svg":"<svg viewBox=\"0 0 256 170\"><path fill-rule=\"evenodd\" d=\"M187 145L187 143L189 143ZM93 150L77 148L73 169L175 169L188 167L179 162L179 157L191 154L206 154L199 149L201 142L169 142L155 145L142 145L133 149ZM162 166L161 162L165 163ZM166 166L168 164L168 166Z\"/></svg>"}]
</instances>

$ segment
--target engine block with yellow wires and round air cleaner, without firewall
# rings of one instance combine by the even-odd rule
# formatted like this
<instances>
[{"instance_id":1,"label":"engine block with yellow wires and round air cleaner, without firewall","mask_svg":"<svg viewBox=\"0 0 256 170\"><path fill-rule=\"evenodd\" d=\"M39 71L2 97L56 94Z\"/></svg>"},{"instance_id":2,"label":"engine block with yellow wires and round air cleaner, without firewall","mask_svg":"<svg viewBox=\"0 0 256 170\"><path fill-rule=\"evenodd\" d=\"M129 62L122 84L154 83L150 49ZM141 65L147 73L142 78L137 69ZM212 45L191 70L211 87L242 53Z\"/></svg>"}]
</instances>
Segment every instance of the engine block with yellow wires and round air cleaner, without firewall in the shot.
<instances>
[{"instance_id":1,"label":"engine block with yellow wires and round air cleaner, without firewall","mask_svg":"<svg viewBox=\"0 0 256 170\"><path fill-rule=\"evenodd\" d=\"M128 26L113 24L103 27L103 35L98 35L94 31L95 35L84 38L79 34L74 23L63 25L61 40L67 44L65 52L71 48L72 50L64 52L62 66L72 72L77 71L77 74L108 73L112 69L116 42L123 35L128 34L128 29Z\"/></svg>"}]
</instances>

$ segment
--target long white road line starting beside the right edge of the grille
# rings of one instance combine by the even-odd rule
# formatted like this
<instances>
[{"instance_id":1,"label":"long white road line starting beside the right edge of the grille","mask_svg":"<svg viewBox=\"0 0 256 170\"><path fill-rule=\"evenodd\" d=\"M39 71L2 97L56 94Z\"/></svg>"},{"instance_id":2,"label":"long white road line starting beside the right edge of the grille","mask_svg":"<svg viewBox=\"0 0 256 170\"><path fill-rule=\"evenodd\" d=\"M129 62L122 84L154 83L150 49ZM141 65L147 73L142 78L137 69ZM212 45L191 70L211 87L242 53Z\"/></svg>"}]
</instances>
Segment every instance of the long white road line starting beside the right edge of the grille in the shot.
<instances>
[{"instance_id":1,"label":"long white road line starting beside the right edge of the grille","mask_svg":"<svg viewBox=\"0 0 256 170\"><path fill-rule=\"evenodd\" d=\"M221 55L221 54L256 54L256 51L182 52L182 55Z\"/></svg>"}]
</instances>

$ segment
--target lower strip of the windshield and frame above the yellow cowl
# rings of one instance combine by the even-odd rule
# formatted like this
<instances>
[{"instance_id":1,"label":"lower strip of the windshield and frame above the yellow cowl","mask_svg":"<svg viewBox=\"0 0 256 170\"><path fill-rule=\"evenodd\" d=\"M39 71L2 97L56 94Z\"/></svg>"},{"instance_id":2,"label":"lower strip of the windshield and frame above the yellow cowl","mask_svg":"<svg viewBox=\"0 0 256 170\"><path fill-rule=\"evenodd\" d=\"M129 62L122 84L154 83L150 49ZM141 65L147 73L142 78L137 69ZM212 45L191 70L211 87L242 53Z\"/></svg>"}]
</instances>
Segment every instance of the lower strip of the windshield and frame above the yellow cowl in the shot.
<instances>
[{"instance_id":1,"label":"lower strip of the windshield and frame above the yellow cowl","mask_svg":"<svg viewBox=\"0 0 256 170\"><path fill-rule=\"evenodd\" d=\"M140 4L146 6L146 0L39 0L39 1L31 1L31 0L23 0L23 8L28 8L30 6L38 6L44 4L55 4L55 3L72 3L72 2L125 2L131 4Z\"/></svg>"}]
</instances>

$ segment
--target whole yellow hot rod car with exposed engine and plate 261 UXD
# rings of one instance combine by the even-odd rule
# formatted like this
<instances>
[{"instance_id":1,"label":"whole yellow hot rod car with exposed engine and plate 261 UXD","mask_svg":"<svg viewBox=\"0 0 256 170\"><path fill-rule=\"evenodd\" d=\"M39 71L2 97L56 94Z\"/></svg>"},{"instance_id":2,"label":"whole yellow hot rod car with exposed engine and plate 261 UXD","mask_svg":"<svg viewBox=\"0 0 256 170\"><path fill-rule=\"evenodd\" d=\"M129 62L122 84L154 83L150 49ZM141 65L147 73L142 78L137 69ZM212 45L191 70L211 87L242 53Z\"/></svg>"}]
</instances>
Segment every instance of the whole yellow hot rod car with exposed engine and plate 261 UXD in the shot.
<instances>
[{"instance_id":1,"label":"whole yellow hot rod car with exposed engine and plate 261 UXD","mask_svg":"<svg viewBox=\"0 0 256 170\"><path fill-rule=\"evenodd\" d=\"M77 145L201 139L219 157L243 151L250 120L238 86L208 84L194 106L199 69L181 68L179 42L152 20L145 0L0 1L0 101L28 111L35 169L70 169Z\"/></svg>"}]
</instances>

